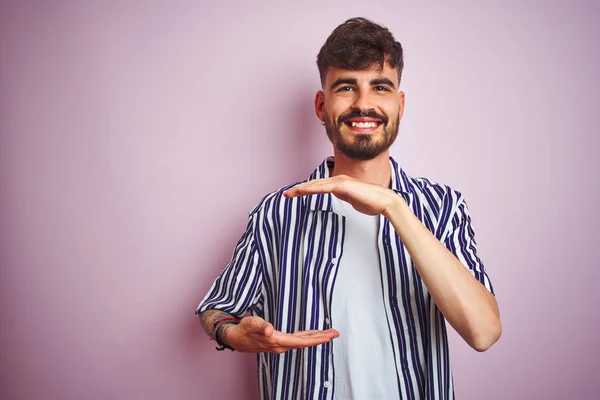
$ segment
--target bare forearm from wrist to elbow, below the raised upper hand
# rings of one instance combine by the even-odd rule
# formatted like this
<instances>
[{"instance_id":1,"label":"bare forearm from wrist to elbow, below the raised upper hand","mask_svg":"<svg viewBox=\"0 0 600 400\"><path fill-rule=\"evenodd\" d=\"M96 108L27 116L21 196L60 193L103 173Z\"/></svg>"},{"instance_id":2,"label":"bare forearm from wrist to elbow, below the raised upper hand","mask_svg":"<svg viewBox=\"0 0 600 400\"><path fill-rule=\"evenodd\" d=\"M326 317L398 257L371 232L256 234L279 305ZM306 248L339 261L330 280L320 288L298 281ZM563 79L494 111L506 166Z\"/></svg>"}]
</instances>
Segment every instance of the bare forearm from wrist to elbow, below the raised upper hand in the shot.
<instances>
[{"instance_id":1,"label":"bare forearm from wrist to elbow, below the raised upper hand","mask_svg":"<svg viewBox=\"0 0 600 400\"><path fill-rule=\"evenodd\" d=\"M489 348L501 332L494 296L431 234L402 197L398 196L384 215L448 323L474 349Z\"/></svg>"}]
</instances>

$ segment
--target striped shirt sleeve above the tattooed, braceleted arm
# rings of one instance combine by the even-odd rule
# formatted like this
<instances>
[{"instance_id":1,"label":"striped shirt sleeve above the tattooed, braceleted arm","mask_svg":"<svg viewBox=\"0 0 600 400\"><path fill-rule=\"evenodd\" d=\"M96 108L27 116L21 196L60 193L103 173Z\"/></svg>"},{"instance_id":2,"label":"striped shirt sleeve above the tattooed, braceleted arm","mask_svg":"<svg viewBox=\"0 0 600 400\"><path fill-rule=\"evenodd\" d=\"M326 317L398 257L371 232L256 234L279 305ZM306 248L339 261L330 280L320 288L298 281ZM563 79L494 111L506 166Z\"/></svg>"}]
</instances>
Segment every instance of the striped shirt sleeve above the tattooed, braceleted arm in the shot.
<instances>
[{"instance_id":1,"label":"striped shirt sleeve above the tattooed, braceleted arm","mask_svg":"<svg viewBox=\"0 0 600 400\"><path fill-rule=\"evenodd\" d=\"M241 318L256 305L262 291L262 265L255 228L255 217L251 216L231 260L196 308L196 314L217 309Z\"/></svg>"}]
</instances>

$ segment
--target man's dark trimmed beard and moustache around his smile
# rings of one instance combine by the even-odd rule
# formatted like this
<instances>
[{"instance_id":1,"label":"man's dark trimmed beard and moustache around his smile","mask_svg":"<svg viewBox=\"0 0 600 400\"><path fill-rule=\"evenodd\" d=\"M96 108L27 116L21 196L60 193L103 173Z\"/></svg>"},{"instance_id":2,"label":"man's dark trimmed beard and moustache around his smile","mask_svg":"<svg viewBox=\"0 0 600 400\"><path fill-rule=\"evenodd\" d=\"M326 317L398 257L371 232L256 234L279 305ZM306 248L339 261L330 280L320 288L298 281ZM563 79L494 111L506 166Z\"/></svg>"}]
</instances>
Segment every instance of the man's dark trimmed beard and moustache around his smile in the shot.
<instances>
[{"instance_id":1,"label":"man's dark trimmed beard and moustache around his smile","mask_svg":"<svg viewBox=\"0 0 600 400\"><path fill-rule=\"evenodd\" d=\"M382 123L372 133L354 133L344 121L348 118L360 116L378 118ZM327 114L324 117L325 131L329 140L343 155L358 161L372 160L389 149L396 140L400 127L398 117L388 120L387 117L374 111L366 113L352 111L341 115L337 121L330 119Z\"/></svg>"}]
</instances>

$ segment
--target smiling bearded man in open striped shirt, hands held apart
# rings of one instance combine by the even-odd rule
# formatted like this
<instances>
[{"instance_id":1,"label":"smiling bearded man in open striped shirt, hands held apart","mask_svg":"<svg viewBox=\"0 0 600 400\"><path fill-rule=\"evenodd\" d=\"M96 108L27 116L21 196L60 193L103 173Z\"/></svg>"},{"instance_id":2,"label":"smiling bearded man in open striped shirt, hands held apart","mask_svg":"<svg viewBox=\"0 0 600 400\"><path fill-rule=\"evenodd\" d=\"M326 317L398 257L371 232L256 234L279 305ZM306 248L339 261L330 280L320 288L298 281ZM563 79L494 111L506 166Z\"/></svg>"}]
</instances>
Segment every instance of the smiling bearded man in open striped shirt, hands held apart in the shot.
<instances>
[{"instance_id":1,"label":"smiling bearded man in open striped shirt, hands held apart","mask_svg":"<svg viewBox=\"0 0 600 400\"><path fill-rule=\"evenodd\" d=\"M501 333L465 200L389 156L404 93L386 28L346 21L317 64L334 157L256 206L196 313L219 349L258 353L263 399L454 398L445 320L477 351Z\"/></svg>"}]
</instances>

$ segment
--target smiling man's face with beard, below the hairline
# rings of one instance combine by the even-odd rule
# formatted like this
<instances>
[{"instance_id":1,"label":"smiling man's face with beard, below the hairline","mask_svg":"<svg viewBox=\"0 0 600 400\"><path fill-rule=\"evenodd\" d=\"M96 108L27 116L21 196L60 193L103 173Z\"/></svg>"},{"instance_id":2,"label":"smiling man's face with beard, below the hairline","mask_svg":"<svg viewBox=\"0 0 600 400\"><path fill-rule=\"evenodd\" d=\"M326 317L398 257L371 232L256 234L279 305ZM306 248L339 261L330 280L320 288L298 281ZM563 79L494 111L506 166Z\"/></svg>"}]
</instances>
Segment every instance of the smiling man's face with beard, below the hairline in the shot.
<instances>
[{"instance_id":1,"label":"smiling man's face with beard, below the hairline","mask_svg":"<svg viewBox=\"0 0 600 400\"><path fill-rule=\"evenodd\" d=\"M315 111L339 152L354 160L372 160L398 136L404 111L398 70L387 63L383 69L360 71L330 67Z\"/></svg>"}]
</instances>

